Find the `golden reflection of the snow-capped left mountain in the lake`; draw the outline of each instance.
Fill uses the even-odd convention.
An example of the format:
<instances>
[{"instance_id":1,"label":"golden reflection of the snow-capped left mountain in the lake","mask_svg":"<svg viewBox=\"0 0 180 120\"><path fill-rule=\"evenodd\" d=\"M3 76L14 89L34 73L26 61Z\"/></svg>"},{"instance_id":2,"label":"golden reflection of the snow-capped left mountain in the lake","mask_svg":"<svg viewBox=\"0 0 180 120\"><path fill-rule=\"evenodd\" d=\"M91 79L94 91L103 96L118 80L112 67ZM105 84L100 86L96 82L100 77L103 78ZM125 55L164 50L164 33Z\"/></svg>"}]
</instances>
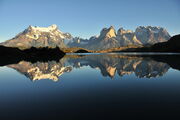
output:
<instances>
[{"instance_id":1,"label":"golden reflection of the snow-capped left mountain in the lake","mask_svg":"<svg viewBox=\"0 0 180 120\"><path fill-rule=\"evenodd\" d=\"M64 72L70 72L72 70L72 67L65 67L61 61L36 63L21 61L18 64L9 65L8 67L17 70L33 81L41 79L58 81L59 76Z\"/></svg>"}]
</instances>

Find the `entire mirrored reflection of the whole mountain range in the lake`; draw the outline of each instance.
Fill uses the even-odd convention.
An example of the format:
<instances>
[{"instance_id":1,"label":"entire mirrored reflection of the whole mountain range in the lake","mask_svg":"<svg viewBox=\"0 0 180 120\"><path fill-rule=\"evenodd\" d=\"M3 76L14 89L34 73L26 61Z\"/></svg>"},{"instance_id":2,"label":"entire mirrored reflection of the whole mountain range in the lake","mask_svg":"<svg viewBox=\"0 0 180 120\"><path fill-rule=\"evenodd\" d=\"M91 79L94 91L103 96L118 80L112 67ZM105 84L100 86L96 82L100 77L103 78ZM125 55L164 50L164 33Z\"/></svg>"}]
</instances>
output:
<instances>
[{"instance_id":1,"label":"entire mirrored reflection of the whole mountain range in the lake","mask_svg":"<svg viewBox=\"0 0 180 120\"><path fill-rule=\"evenodd\" d=\"M58 81L62 74L85 66L99 70L102 76L110 78L116 74L123 77L133 73L138 78L152 78L163 76L170 68L168 64L148 57L125 55L66 55L59 61L35 63L20 61L18 64L11 64L7 67L17 70L32 81L41 79Z\"/></svg>"}]
</instances>

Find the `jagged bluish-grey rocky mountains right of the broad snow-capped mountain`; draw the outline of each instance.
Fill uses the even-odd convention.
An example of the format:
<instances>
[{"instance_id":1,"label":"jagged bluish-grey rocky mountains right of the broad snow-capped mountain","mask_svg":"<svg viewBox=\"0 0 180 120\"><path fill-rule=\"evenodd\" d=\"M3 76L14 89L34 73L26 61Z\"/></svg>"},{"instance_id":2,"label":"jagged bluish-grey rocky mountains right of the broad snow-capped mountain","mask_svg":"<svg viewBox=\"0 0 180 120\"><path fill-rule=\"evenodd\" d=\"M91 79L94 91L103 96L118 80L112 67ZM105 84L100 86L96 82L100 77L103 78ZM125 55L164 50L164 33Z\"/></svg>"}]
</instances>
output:
<instances>
[{"instance_id":1,"label":"jagged bluish-grey rocky mountains right of the broad snow-capped mountain","mask_svg":"<svg viewBox=\"0 0 180 120\"><path fill-rule=\"evenodd\" d=\"M168 41L170 37L167 30L161 27L140 26L136 28L135 32L120 28L116 32L111 26L110 28L103 28L99 36L93 36L89 40L74 38L74 41L68 45L89 50L105 50L128 46L148 46Z\"/></svg>"}]
</instances>

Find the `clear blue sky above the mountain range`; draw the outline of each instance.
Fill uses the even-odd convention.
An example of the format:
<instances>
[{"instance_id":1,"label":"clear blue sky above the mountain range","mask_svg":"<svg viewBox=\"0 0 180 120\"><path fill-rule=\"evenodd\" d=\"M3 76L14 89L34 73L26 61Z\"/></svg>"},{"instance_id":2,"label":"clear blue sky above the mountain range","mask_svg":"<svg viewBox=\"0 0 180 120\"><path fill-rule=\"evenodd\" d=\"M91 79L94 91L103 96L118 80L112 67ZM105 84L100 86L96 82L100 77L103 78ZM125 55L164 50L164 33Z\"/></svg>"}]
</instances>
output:
<instances>
[{"instance_id":1,"label":"clear blue sky above the mountain range","mask_svg":"<svg viewBox=\"0 0 180 120\"><path fill-rule=\"evenodd\" d=\"M0 41L29 25L57 24L63 32L89 38L104 27L135 30L162 26L180 33L179 0L0 0Z\"/></svg>"}]
</instances>

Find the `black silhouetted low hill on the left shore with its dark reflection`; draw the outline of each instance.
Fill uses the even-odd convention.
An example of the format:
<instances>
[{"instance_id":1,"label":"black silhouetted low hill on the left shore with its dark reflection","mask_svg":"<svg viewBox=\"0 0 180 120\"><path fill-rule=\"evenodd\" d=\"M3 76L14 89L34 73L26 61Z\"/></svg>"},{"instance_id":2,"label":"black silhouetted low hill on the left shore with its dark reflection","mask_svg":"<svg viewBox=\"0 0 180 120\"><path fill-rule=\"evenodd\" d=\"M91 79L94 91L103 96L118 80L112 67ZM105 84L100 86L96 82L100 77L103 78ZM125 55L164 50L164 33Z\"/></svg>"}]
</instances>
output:
<instances>
[{"instance_id":1,"label":"black silhouetted low hill on the left shore with its dark reflection","mask_svg":"<svg viewBox=\"0 0 180 120\"><path fill-rule=\"evenodd\" d=\"M20 50L18 48L0 46L0 66L4 64L18 63L25 60L30 62L59 60L65 53L59 48L30 48Z\"/></svg>"}]
</instances>

